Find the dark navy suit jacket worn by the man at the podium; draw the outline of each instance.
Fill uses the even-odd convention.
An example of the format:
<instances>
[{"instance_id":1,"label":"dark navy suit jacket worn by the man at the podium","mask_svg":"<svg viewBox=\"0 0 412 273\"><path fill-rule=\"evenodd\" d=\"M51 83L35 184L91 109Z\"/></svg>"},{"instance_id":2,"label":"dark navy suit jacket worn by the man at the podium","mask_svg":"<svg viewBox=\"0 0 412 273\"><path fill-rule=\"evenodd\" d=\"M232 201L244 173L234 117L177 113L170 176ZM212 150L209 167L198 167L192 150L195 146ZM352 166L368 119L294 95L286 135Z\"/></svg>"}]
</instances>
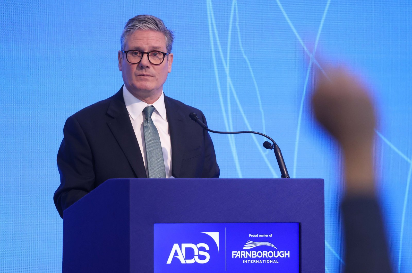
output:
<instances>
[{"instance_id":1,"label":"dark navy suit jacket worn by the man at the podium","mask_svg":"<svg viewBox=\"0 0 412 273\"><path fill-rule=\"evenodd\" d=\"M54 204L63 211L109 178L147 178L143 157L120 88L112 97L70 116L57 154L60 186ZM164 96L169 123L172 176L218 178L215 150L206 130L189 118L203 113Z\"/></svg>"}]
</instances>

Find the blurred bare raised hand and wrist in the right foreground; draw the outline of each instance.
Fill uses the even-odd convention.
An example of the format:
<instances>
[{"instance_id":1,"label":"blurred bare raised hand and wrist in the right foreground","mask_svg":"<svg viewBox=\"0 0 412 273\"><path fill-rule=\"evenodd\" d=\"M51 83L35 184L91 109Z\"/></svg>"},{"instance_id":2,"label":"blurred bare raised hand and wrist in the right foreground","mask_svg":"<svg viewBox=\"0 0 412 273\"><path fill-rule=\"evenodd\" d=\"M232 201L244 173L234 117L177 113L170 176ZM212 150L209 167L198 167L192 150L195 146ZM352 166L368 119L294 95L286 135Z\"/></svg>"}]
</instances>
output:
<instances>
[{"instance_id":1,"label":"blurred bare raised hand and wrist in the right foreground","mask_svg":"<svg viewBox=\"0 0 412 273\"><path fill-rule=\"evenodd\" d=\"M374 194L375 109L365 85L344 67L318 73L311 105L318 122L337 140L344 157L346 192Z\"/></svg>"}]
</instances>

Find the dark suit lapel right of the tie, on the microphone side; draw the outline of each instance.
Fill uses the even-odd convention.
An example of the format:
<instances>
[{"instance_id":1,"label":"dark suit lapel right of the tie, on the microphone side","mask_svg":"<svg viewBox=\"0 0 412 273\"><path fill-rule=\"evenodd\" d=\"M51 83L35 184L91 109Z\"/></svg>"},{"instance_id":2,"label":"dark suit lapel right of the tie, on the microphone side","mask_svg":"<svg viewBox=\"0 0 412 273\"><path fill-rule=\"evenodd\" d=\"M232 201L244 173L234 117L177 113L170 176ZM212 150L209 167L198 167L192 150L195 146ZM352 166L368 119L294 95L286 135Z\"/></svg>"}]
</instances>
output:
<instances>
[{"instance_id":1,"label":"dark suit lapel right of the tie, on the microphone side","mask_svg":"<svg viewBox=\"0 0 412 273\"><path fill-rule=\"evenodd\" d=\"M172 176L178 178L183 161L183 147L185 147L185 116L170 97L164 96L164 106L172 146Z\"/></svg>"}]
</instances>

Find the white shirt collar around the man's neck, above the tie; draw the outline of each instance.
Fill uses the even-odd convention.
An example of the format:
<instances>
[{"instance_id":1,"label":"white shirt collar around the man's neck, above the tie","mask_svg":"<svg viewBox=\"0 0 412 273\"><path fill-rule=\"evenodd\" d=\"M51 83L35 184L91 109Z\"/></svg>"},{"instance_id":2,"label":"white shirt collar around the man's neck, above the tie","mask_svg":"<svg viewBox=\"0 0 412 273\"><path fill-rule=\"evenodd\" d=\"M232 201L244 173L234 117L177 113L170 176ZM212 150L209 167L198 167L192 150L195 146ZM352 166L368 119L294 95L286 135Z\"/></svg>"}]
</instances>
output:
<instances>
[{"instance_id":1,"label":"white shirt collar around the man's neck, above the tie","mask_svg":"<svg viewBox=\"0 0 412 273\"><path fill-rule=\"evenodd\" d=\"M157 101L153 102L152 104L147 104L146 102L141 101L137 97L133 96L129 90L127 90L126 86L123 86L123 99L124 103L126 104L126 109L129 112L130 117L135 120L138 116L142 115L143 109L146 106L153 105L155 107L155 111L159 113L159 115L166 120L166 107L164 106L164 93L162 90L162 95L157 99Z\"/></svg>"}]
</instances>

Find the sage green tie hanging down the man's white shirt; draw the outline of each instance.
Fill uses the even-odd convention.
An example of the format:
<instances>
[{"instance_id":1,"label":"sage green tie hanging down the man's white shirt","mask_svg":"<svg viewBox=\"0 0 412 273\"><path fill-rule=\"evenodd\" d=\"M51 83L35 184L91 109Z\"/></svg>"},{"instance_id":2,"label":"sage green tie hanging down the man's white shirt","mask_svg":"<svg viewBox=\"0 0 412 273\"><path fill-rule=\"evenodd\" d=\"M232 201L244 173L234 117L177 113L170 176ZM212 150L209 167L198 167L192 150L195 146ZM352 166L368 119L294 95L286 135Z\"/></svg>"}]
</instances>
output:
<instances>
[{"instance_id":1,"label":"sage green tie hanging down the man's white shirt","mask_svg":"<svg viewBox=\"0 0 412 273\"><path fill-rule=\"evenodd\" d=\"M143 123L143 132L145 134L147 168L149 169L149 178L166 178L162 144L160 143L159 132L157 132L152 120L153 111L155 111L153 105L143 109L146 116Z\"/></svg>"}]
</instances>

